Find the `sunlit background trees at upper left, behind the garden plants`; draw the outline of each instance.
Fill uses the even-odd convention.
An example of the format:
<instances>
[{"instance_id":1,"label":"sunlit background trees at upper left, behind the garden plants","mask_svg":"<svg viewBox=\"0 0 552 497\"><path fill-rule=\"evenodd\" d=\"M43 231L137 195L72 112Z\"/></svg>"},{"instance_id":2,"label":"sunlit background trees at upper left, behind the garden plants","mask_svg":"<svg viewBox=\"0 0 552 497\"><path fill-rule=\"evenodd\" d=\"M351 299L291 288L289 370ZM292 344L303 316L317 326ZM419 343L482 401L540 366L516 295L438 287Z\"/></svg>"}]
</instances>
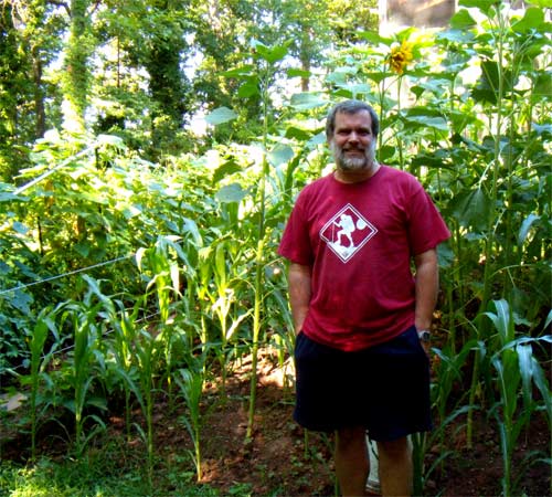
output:
<instances>
[{"instance_id":1,"label":"sunlit background trees at upper left, behind the garden plants","mask_svg":"<svg viewBox=\"0 0 552 497\"><path fill-rule=\"evenodd\" d=\"M247 60L252 40L286 44L307 91L325 54L376 29L375 4L1 0L0 175L12 178L14 160L25 165L25 147L52 128L116 134L152 160L197 149L187 125L235 103L243 82L222 73ZM242 102L242 121L258 106L255 95ZM238 123L219 139L247 136Z\"/></svg>"}]
</instances>

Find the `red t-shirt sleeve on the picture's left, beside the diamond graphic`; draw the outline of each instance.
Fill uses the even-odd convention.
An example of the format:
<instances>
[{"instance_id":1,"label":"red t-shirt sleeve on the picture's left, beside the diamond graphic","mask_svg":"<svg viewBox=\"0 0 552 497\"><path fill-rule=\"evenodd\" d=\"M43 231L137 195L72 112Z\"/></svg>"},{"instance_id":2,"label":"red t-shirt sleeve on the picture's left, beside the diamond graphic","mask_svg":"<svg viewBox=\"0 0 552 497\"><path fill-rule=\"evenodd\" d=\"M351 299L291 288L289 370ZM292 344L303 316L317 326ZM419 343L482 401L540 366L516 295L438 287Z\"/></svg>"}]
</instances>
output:
<instances>
[{"instance_id":1,"label":"red t-shirt sleeve on the picture's left, beside the diamond graphic","mask_svg":"<svg viewBox=\"0 0 552 497\"><path fill-rule=\"evenodd\" d=\"M278 246L278 254L293 263L308 266L312 264L315 257L301 200L299 195L289 215Z\"/></svg>"}]
</instances>

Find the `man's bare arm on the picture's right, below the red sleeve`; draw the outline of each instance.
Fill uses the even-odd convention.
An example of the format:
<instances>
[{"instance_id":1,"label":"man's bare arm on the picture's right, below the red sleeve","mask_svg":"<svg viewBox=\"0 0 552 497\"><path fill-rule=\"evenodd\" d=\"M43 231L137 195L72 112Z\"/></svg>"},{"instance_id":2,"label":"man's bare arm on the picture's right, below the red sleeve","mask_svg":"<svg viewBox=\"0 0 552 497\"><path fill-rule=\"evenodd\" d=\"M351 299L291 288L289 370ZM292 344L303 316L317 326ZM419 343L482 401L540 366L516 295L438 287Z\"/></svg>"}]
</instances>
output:
<instances>
[{"instance_id":1,"label":"man's bare arm on the picture's right, below the red sleeve","mask_svg":"<svg viewBox=\"0 0 552 497\"><path fill-rule=\"evenodd\" d=\"M437 250L432 248L414 257L416 265L416 311L414 324L418 331L429 329L437 303L439 269Z\"/></svg>"}]
</instances>

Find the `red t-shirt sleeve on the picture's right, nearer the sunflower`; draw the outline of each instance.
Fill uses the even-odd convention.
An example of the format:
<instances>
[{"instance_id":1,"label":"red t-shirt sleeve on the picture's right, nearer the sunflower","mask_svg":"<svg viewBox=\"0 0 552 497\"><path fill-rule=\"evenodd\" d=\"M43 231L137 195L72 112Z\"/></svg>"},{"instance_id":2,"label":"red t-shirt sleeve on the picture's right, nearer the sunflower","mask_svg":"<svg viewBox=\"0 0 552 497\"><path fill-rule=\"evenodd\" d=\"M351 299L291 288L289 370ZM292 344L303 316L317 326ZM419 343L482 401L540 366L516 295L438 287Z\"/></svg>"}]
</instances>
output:
<instances>
[{"instance_id":1,"label":"red t-shirt sleeve on the picture's right, nearer the sunflower","mask_svg":"<svg viewBox=\"0 0 552 497\"><path fill-rule=\"evenodd\" d=\"M411 197L408 242L413 255L435 248L450 232L429 194L418 183Z\"/></svg>"}]
</instances>

